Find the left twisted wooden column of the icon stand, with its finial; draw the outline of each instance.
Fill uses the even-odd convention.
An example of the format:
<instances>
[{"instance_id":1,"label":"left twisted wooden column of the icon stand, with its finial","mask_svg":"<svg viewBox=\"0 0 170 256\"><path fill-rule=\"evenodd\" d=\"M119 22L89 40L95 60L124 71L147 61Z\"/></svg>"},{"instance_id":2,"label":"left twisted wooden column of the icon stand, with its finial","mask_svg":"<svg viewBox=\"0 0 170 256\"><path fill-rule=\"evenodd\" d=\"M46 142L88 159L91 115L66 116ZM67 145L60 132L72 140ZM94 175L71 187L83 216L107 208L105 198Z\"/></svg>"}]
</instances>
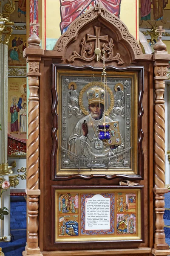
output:
<instances>
[{"instance_id":1,"label":"left twisted wooden column of the icon stand, with its finial","mask_svg":"<svg viewBox=\"0 0 170 256\"><path fill-rule=\"evenodd\" d=\"M43 50L35 34L28 38L24 56L28 62L28 141L27 141L27 246L23 256L42 255L38 247L38 197L39 189L39 78L40 60Z\"/></svg>"}]
</instances>

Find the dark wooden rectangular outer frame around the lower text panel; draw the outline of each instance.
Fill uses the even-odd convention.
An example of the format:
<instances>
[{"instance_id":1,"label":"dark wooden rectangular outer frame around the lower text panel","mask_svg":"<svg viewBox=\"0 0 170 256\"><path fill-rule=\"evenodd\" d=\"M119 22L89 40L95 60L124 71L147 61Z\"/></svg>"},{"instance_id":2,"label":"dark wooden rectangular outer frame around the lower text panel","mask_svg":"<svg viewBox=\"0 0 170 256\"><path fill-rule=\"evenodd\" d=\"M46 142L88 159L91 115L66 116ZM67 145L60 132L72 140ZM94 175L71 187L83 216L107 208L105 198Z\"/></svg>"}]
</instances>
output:
<instances>
[{"instance_id":1,"label":"dark wooden rectangular outer frame around the lower text panel","mask_svg":"<svg viewBox=\"0 0 170 256\"><path fill-rule=\"evenodd\" d=\"M142 209L144 209L144 186L51 186L51 244L73 244L75 241L55 241L55 190L56 189L141 189L141 239L123 239L123 240L107 240L107 241L100 241L102 243L117 243L117 242L123 242L127 244L128 242L133 243L144 243L144 214L142 214ZM99 241L76 241L76 243L96 243Z\"/></svg>"}]
</instances>

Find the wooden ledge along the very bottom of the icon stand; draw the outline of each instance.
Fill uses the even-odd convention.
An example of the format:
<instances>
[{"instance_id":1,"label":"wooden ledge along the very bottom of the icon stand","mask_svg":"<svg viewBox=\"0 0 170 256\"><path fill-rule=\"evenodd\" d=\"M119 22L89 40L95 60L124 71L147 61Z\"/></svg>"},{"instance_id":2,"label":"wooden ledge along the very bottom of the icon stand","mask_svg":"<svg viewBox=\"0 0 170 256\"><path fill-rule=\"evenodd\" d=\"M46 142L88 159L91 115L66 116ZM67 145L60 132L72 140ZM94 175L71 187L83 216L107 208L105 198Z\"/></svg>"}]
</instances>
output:
<instances>
[{"instance_id":1,"label":"wooden ledge along the very bottom of the icon stand","mask_svg":"<svg viewBox=\"0 0 170 256\"><path fill-rule=\"evenodd\" d=\"M136 253L151 253L152 248L136 248L136 249L113 249L113 250L82 250L82 251L43 251L43 256L106 256L106 255L118 255L118 254L136 254Z\"/></svg>"}]
</instances>

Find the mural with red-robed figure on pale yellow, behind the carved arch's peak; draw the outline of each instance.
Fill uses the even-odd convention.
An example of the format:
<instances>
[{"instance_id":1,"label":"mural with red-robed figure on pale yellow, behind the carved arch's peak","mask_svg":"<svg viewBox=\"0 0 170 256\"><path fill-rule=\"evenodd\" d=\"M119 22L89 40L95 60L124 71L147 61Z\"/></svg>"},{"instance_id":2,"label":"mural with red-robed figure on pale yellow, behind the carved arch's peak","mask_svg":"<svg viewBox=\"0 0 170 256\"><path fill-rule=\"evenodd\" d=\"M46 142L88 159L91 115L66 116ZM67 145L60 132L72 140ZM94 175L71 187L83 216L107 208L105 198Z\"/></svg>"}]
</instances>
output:
<instances>
[{"instance_id":1,"label":"mural with red-robed figure on pale yellow, behind the carved arch's peak","mask_svg":"<svg viewBox=\"0 0 170 256\"><path fill-rule=\"evenodd\" d=\"M85 3L84 3L85 2ZM51 5L48 1L46 2L46 33L45 45L46 49L52 50L57 39L62 33L64 33L71 22L73 22L79 15L88 12L93 8L99 0L88 0L88 1L77 1L78 4L74 4L75 1L57 1L55 5ZM119 17L128 27L130 33L138 37L138 13L136 12L136 5L134 0L127 2L126 0L102 0L102 4L111 12ZM137 4L137 3L136 3ZM79 6L79 8L77 8ZM65 15L65 8L67 7L67 15ZM55 8L55 16L51 15ZM129 15L130 14L130 15ZM66 16L66 17L65 17ZM49 17L49 18L48 18ZM57 17L57 19L56 19ZM137 17L137 20L136 20ZM51 27L51 23L53 26ZM51 29L53 28L53 29ZM42 28L43 31L44 28ZM43 42L42 42L43 44Z\"/></svg>"}]
</instances>

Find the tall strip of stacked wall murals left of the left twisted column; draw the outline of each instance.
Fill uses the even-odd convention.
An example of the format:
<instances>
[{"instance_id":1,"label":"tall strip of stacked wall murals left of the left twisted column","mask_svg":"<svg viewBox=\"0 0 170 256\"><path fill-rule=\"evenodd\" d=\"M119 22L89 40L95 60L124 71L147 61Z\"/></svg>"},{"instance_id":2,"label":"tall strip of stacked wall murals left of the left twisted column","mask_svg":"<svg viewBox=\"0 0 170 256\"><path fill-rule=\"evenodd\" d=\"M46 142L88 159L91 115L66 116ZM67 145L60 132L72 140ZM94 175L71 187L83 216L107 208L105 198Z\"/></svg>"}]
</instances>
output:
<instances>
[{"instance_id":1,"label":"tall strip of stacked wall murals left of the left twisted column","mask_svg":"<svg viewBox=\"0 0 170 256\"><path fill-rule=\"evenodd\" d=\"M10 16L14 26L8 44L8 144L12 140L8 154L18 148L18 157L26 157L18 146L26 142L27 130L26 58L23 58L27 44L26 16L26 0L15 0L15 10Z\"/></svg>"}]
</instances>

